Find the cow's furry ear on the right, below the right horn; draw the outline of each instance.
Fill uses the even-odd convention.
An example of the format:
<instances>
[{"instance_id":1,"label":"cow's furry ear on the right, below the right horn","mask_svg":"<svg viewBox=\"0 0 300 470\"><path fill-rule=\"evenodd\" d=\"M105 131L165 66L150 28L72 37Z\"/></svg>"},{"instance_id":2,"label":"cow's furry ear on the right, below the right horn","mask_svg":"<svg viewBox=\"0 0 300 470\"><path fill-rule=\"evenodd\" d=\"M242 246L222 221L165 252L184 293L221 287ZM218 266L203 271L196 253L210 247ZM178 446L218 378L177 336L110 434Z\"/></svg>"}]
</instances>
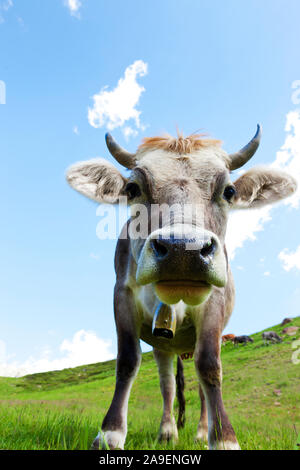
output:
<instances>
[{"instance_id":1,"label":"cow's furry ear on the right, below the right horn","mask_svg":"<svg viewBox=\"0 0 300 470\"><path fill-rule=\"evenodd\" d=\"M297 189L296 180L281 170L256 167L244 173L234 186L234 209L258 208L280 201Z\"/></svg>"}]
</instances>

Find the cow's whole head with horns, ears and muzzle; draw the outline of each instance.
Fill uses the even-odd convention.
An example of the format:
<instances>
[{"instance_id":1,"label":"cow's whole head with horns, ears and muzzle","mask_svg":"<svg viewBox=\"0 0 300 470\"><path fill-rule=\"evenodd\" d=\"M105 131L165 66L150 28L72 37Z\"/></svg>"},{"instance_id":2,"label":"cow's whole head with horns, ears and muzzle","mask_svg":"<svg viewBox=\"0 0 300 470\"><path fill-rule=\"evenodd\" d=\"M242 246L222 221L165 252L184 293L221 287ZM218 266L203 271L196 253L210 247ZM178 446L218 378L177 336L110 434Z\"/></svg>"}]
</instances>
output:
<instances>
[{"instance_id":1,"label":"cow's whole head with horns, ears and muzzle","mask_svg":"<svg viewBox=\"0 0 300 470\"><path fill-rule=\"evenodd\" d=\"M229 210L258 208L296 189L291 176L271 168L253 168L232 181L231 172L250 160L260 137L258 126L253 139L231 155L219 141L199 135L146 138L131 154L107 134L110 153L131 170L129 177L106 160L94 159L73 165L67 180L100 203L117 203L127 196L135 215L144 213L148 229L140 238L130 237L137 283L154 284L167 304L182 299L197 305L208 298L212 286L226 284ZM136 212L137 207L144 211Z\"/></svg>"}]
</instances>

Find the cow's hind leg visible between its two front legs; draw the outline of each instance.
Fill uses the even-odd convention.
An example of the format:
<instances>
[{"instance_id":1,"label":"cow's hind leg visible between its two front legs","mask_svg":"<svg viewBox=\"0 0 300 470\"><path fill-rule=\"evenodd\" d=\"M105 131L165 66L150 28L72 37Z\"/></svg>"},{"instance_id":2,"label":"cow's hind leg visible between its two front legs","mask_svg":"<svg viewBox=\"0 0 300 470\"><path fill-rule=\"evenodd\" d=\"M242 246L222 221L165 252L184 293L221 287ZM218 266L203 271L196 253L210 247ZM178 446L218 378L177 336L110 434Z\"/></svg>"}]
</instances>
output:
<instances>
[{"instance_id":1,"label":"cow's hind leg visible between its two front legs","mask_svg":"<svg viewBox=\"0 0 300 470\"><path fill-rule=\"evenodd\" d=\"M160 441L177 440L178 431L173 416L173 403L176 393L173 372L174 354L168 354L158 349L154 349L153 354L158 366L160 389L163 396L163 416L160 423L158 439Z\"/></svg>"}]
</instances>

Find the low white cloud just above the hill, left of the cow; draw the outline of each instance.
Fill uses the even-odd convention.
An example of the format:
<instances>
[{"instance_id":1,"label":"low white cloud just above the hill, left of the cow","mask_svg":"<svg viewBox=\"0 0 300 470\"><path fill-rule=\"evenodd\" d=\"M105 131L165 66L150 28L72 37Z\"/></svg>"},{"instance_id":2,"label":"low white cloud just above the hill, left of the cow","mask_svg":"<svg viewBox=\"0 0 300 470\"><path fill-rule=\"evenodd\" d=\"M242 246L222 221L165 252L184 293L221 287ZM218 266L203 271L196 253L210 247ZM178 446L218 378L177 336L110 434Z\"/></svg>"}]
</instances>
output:
<instances>
[{"instance_id":1,"label":"low white cloud just above the hill, left of the cow","mask_svg":"<svg viewBox=\"0 0 300 470\"><path fill-rule=\"evenodd\" d=\"M65 339L54 357L53 351L45 348L39 358L29 357L24 362L13 360L0 340L0 376L20 377L26 374L61 370L84 364L103 362L114 358L111 341L99 338L93 331L77 331L71 340Z\"/></svg>"}]
</instances>

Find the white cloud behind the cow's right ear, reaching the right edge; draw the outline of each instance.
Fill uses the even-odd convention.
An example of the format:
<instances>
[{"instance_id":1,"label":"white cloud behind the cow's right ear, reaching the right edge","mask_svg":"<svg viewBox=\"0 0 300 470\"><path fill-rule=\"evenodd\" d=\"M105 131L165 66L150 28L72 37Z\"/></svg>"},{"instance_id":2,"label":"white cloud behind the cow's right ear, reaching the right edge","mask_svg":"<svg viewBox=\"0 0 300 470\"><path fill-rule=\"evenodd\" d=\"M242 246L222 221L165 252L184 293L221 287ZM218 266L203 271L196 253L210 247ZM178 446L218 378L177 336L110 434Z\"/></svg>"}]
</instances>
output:
<instances>
[{"instance_id":1,"label":"white cloud behind the cow's right ear, reaching the right edge","mask_svg":"<svg viewBox=\"0 0 300 470\"><path fill-rule=\"evenodd\" d=\"M284 144L276 153L274 162L270 165L290 173L298 181L298 190L294 195L283 201L283 204L298 208L300 202L300 111L291 111L286 116L285 131L287 132ZM226 243L230 259L233 259L236 250L241 248L247 240L256 240L258 232L264 230L265 224L272 217L274 206L261 209L235 211L230 214Z\"/></svg>"}]
</instances>

